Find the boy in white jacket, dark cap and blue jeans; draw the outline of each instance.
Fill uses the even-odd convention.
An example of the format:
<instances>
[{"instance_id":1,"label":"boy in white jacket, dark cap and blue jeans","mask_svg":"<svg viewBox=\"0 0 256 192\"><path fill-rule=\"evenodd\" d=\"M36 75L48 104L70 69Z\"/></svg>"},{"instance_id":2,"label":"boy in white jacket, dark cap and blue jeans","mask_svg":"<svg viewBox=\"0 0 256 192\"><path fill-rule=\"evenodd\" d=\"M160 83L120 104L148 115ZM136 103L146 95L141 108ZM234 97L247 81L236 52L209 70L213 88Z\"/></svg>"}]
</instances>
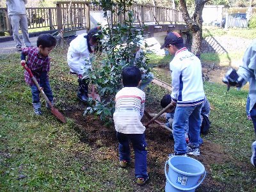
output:
<instances>
[{"instance_id":1,"label":"boy in white jacket, dark cap and blue jeans","mask_svg":"<svg viewBox=\"0 0 256 192\"><path fill-rule=\"evenodd\" d=\"M170 156L200 155L200 113L204 102L202 67L195 54L184 47L179 33L170 32L164 38L161 49L167 48L174 55L170 62L172 72L172 103L176 105L173 118L174 154ZM188 146L185 140L186 121L189 121Z\"/></svg>"}]
</instances>

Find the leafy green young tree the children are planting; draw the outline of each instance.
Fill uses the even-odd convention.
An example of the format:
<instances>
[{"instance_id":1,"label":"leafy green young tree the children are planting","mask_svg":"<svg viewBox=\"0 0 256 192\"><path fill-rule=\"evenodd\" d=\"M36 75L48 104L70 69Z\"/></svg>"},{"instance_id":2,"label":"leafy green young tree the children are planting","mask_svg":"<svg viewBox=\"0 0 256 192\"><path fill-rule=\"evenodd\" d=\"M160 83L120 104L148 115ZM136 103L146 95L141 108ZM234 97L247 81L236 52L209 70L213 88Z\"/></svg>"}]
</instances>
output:
<instances>
[{"instance_id":1,"label":"leafy green young tree the children are planting","mask_svg":"<svg viewBox=\"0 0 256 192\"><path fill-rule=\"evenodd\" d=\"M144 53L141 53L140 58L134 59L144 28L132 26L134 14L129 9L132 3L133 1L115 1L114 3L109 0L95 2L103 8L105 13L106 10L110 10L114 17L122 16L122 22L118 22L115 26L114 23L102 26L104 36L102 49L106 56L102 60L93 60L93 70L88 73L91 83L97 88L101 102L90 99L84 115L88 113L98 115L106 124L113 122L115 95L122 88L122 69L136 65L147 72L150 71ZM118 8L118 11L114 11L114 7Z\"/></svg>"}]
</instances>

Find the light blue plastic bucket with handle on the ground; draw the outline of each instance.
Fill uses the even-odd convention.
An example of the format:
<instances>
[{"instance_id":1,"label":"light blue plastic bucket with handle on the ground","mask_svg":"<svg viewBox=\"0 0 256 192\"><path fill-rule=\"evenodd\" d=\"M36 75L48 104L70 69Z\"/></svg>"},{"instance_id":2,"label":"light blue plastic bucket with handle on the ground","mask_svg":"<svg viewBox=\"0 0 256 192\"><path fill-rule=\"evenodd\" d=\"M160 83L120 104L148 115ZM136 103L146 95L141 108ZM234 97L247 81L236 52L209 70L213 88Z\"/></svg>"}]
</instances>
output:
<instances>
[{"instance_id":1,"label":"light blue plastic bucket with handle on the ground","mask_svg":"<svg viewBox=\"0 0 256 192\"><path fill-rule=\"evenodd\" d=\"M168 173L166 172L167 164L169 166ZM173 156L168 159L165 163L164 172L167 180L165 192L193 192L200 186L206 175L202 163L185 156ZM201 177L202 179L200 180Z\"/></svg>"}]
</instances>

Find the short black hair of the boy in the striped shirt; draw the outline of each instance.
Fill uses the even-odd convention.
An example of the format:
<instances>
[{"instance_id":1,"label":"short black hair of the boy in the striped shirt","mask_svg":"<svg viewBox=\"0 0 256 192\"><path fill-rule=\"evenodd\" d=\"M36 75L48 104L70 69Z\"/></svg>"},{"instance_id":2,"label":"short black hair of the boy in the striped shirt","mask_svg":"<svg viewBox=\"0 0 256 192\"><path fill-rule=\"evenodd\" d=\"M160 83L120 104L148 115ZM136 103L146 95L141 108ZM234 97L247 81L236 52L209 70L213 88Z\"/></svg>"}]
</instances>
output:
<instances>
[{"instance_id":1,"label":"short black hair of the boy in the striped shirt","mask_svg":"<svg viewBox=\"0 0 256 192\"><path fill-rule=\"evenodd\" d=\"M136 87L141 80L141 71L138 67L125 67L122 71L122 82L124 87Z\"/></svg>"}]
</instances>

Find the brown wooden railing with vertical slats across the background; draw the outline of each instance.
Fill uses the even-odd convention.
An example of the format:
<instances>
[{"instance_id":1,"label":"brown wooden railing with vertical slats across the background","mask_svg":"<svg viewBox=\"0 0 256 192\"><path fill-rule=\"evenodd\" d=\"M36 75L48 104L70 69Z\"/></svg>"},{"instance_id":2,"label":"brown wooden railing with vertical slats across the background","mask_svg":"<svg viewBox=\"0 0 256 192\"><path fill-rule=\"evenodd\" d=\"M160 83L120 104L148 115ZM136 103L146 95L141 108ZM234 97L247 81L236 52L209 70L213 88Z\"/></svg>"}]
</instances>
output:
<instances>
[{"instance_id":1,"label":"brown wooden railing with vertical slats across the background","mask_svg":"<svg viewBox=\"0 0 256 192\"><path fill-rule=\"evenodd\" d=\"M113 24L122 23L127 15L117 15L118 8L113 8ZM146 6L133 4L128 8L134 14L135 23L145 22L184 22L179 11L160 6ZM95 6L86 1L57 1L56 7L49 8L26 8L28 15L28 28L64 29L76 31L90 28L90 10L100 11L100 6ZM0 32L12 33L7 8L0 8Z\"/></svg>"}]
</instances>

